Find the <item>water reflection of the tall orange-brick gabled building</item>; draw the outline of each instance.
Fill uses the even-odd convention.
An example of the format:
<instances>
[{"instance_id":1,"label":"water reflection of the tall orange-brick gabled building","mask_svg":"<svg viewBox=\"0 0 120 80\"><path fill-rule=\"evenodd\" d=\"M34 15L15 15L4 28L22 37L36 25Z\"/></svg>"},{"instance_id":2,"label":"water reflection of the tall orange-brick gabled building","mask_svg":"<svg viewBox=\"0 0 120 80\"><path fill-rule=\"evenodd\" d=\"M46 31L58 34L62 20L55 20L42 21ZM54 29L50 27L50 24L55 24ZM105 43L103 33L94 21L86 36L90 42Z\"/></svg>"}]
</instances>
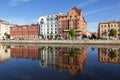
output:
<instances>
[{"instance_id":1,"label":"water reflection of the tall orange-brick gabled building","mask_svg":"<svg viewBox=\"0 0 120 80\"><path fill-rule=\"evenodd\" d=\"M82 73L87 58L87 48L59 48L58 68L60 71L68 70L72 76ZM73 56L75 55L76 56Z\"/></svg>"}]
</instances>

